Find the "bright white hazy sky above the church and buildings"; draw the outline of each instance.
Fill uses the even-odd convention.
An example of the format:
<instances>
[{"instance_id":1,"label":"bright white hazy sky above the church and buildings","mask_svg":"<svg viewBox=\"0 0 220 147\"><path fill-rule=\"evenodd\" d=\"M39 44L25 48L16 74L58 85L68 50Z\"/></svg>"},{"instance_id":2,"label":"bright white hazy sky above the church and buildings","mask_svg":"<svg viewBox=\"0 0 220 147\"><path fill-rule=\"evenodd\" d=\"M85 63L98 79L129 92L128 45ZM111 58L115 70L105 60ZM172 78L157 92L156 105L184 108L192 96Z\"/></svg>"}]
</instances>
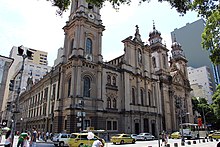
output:
<instances>
[{"instance_id":1,"label":"bright white hazy sky above the church and buildings","mask_svg":"<svg viewBox=\"0 0 220 147\"><path fill-rule=\"evenodd\" d=\"M136 1L136 2L135 2ZM114 59L124 53L123 39L134 36L135 26L139 26L141 39L148 43L149 32L161 32L163 43L171 49L170 33L186 23L199 18L195 12L179 13L167 2L151 0L141 5L139 0L120 6L116 11L109 3L101 9L103 32L102 55L104 61ZM63 47L63 27L68 20L69 10L62 16L56 15L56 7L46 0L4 0L0 2L0 55L9 56L13 46L23 45L48 52L48 65L53 66L57 50ZM178 41L178 38L177 38Z\"/></svg>"}]
</instances>

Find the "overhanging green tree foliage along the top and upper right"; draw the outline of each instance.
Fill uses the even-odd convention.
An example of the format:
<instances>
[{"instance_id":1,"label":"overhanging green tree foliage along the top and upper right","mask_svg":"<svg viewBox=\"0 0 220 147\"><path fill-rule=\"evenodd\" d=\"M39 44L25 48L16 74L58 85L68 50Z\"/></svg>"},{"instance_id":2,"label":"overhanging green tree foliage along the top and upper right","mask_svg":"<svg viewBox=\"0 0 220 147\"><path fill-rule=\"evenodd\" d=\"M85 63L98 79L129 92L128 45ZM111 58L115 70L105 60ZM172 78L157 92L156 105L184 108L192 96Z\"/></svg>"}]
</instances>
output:
<instances>
[{"instance_id":1,"label":"overhanging green tree foliage along the top and upper right","mask_svg":"<svg viewBox=\"0 0 220 147\"><path fill-rule=\"evenodd\" d=\"M49 1L49 0L47 0ZM68 9L71 0L50 0L53 6L58 7L57 13L62 13ZM121 4L130 4L131 0L86 0L88 3L103 7L105 1L109 1L113 8L118 8ZM142 2L151 0L139 0ZM210 59L214 64L220 64L220 4L219 0L158 0L158 2L169 2L172 8L176 8L181 15L187 11L198 12L198 16L206 20L206 27L202 34L202 46L210 52Z\"/></svg>"}]
</instances>

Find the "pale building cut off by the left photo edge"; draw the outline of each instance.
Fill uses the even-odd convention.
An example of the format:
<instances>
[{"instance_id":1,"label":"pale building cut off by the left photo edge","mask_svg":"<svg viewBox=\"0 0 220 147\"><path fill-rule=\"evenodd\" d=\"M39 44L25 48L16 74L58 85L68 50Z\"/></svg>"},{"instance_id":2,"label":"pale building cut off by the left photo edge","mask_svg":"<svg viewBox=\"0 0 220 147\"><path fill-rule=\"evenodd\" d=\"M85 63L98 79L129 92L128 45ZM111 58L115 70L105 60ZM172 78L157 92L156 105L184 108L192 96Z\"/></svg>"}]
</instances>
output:
<instances>
[{"instance_id":1,"label":"pale building cut off by the left photo edge","mask_svg":"<svg viewBox=\"0 0 220 147\"><path fill-rule=\"evenodd\" d=\"M4 102L4 94L5 89L8 87L7 83L7 77L8 77L8 71L13 63L12 58L8 58L5 56L0 55L0 116L2 115L3 109L5 109L4 105L2 105ZM2 117L0 117L0 123L2 122Z\"/></svg>"}]
</instances>

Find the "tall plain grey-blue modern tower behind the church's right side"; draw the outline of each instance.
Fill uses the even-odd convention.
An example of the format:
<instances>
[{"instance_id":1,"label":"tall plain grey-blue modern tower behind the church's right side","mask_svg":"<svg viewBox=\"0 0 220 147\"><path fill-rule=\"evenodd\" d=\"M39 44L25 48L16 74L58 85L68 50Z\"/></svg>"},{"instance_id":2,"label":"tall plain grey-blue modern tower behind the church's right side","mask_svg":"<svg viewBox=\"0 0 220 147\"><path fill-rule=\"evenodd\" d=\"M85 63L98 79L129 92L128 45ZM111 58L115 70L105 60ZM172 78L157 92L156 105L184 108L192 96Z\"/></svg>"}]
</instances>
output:
<instances>
[{"instance_id":1,"label":"tall plain grey-blue modern tower behind the church's right side","mask_svg":"<svg viewBox=\"0 0 220 147\"><path fill-rule=\"evenodd\" d=\"M172 41L174 38L182 45L182 49L188 60L188 66L200 68L207 66L210 69L212 81L212 90L215 90L216 85L220 84L220 69L219 66L212 64L209 59L209 52L202 48L202 32L205 28L205 21L199 19L192 23L187 23L181 28L176 28L171 32Z\"/></svg>"}]
</instances>

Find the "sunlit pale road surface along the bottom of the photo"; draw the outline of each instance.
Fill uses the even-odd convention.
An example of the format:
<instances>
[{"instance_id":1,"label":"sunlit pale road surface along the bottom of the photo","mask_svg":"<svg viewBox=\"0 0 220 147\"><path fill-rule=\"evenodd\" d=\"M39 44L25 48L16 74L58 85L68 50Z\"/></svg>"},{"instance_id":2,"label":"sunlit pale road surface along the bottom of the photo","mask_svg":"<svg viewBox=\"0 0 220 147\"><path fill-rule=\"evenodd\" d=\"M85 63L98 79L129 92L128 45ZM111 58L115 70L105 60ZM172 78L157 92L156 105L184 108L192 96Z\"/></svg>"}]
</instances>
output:
<instances>
[{"instance_id":1,"label":"sunlit pale road surface along the bottom of the photo","mask_svg":"<svg viewBox=\"0 0 220 147\"><path fill-rule=\"evenodd\" d=\"M188 142L188 140L186 140L186 142ZM187 143L185 143L185 146L183 147L216 147L218 141L214 140L213 142L207 142L207 140L205 140L205 142L203 142L202 139L200 139L200 143L199 140L196 140L196 144L193 144L193 140L190 140L191 145L188 145ZM181 147L181 140L180 139L169 139L168 144L170 144L170 147L175 147L174 144L177 143L178 147ZM154 141L137 141L135 144L123 144L123 145L115 145L112 143L106 143L105 147L163 147L163 146L159 146L158 145L159 142L158 140L154 140ZM161 144L161 141L160 141ZM37 147L54 147L54 145L52 143L37 143Z\"/></svg>"}]
</instances>

